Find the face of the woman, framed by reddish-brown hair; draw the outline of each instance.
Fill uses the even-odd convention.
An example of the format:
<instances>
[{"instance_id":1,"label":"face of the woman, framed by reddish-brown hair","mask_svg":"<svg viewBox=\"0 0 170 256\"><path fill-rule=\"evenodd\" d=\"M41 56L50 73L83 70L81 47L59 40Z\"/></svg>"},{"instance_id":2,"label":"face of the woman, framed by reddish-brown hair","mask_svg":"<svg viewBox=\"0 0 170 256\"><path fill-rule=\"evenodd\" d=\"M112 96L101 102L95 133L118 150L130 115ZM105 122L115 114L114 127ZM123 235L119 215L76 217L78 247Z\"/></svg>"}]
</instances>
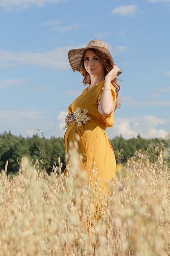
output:
<instances>
[{"instance_id":1,"label":"face of the woman, framed by reddish-brown hair","mask_svg":"<svg viewBox=\"0 0 170 256\"><path fill-rule=\"evenodd\" d=\"M100 63L95 53L91 50L86 50L84 56L84 67L90 75L104 75L104 65Z\"/></svg>"}]
</instances>

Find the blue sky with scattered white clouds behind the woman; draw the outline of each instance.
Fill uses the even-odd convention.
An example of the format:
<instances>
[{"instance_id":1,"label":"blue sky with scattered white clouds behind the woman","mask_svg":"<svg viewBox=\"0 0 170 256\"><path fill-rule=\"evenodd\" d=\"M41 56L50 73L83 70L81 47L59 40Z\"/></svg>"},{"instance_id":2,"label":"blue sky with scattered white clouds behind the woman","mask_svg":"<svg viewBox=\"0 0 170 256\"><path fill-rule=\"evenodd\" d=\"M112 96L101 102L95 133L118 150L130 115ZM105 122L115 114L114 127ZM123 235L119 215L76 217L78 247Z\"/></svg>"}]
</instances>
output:
<instances>
[{"instance_id":1,"label":"blue sky with scattered white clouds behind the woman","mask_svg":"<svg viewBox=\"0 0 170 256\"><path fill-rule=\"evenodd\" d=\"M0 0L0 134L63 137L69 104L82 92L68 51L108 43L121 108L110 139L170 132L170 0Z\"/></svg>"}]
</instances>

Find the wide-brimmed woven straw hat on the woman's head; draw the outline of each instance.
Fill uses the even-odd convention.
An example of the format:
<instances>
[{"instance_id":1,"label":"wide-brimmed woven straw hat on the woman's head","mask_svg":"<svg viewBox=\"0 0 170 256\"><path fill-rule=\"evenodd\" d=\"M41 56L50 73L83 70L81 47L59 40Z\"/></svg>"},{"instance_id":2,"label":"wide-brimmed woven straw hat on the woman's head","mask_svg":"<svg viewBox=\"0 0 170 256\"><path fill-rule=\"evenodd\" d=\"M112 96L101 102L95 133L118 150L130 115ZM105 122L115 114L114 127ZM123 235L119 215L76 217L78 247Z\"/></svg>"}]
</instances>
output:
<instances>
[{"instance_id":1,"label":"wide-brimmed woven straw hat on the woman's head","mask_svg":"<svg viewBox=\"0 0 170 256\"><path fill-rule=\"evenodd\" d=\"M81 72L82 71L82 65L81 65L81 60L82 60L82 56L84 54L84 51L87 49L98 49L101 52L104 52L108 58L110 59L112 65L114 64L113 58L109 52L109 46L107 43L105 43L102 40L98 40L98 39L93 39L91 41L88 42L88 44L86 45L85 48L81 48L81 49L72 49L68 52L68 60L70 62L70 65L73 69L73 71L75 72L75 70ZM121 74L121 70L118 67L118 72L117 72L117 76L119 76L119 74Z\"/></svg>"}]
</instances>

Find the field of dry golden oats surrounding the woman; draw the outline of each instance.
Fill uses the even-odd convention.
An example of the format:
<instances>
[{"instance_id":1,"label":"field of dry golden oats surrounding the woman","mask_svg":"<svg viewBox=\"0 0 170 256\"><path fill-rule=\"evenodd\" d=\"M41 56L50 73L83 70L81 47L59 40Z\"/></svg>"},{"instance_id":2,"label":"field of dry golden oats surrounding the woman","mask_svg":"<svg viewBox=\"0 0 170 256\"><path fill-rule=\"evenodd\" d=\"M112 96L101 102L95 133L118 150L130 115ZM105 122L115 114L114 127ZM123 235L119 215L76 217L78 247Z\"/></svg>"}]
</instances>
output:
<instances>
[{"instance_id":1,"label":"field of dry golden oats surrounding the woman","mask_svg":"<svg viewBox=\"0 0 170 256\"><path fill-rule=\"evenodd\" d=\"M106 196L88 185L71 151L68 177L22 159L18 175L0 175L0 256L170 255L170 166L140 150ZM94 172L95 175L95 172ZM99 181L98 181L99 182ZM98 198L98 199L96 199ZM104 203L105 202L105 203Z\"/></svg>"}]
</instances>

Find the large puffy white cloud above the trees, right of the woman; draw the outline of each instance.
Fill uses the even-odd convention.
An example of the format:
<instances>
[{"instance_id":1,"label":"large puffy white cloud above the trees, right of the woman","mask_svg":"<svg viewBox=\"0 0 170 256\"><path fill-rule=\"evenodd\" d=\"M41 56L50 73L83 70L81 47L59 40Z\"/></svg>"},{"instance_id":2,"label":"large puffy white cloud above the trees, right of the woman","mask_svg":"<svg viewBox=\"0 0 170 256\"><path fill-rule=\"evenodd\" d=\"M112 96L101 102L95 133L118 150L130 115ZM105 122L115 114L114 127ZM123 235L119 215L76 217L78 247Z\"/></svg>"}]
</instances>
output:
<instances>
[{"instance_id":1,"label":"large puffy white cloud above the trees, right of the woman","mask_svg":"<svg viewBox=\"0 0 170 256\"><path fill-rule=\"evenodd\" d=\"M170 122L168 119L155 117L152 115L144 117L120 118L115 117L113 128L108 128L107 134L109 138L122 135L125 139L137 137L138 134L142 138L166 138L168 132L163 128L158 129L158 125L165 125Z\"/></svg>"}]
</instances>

